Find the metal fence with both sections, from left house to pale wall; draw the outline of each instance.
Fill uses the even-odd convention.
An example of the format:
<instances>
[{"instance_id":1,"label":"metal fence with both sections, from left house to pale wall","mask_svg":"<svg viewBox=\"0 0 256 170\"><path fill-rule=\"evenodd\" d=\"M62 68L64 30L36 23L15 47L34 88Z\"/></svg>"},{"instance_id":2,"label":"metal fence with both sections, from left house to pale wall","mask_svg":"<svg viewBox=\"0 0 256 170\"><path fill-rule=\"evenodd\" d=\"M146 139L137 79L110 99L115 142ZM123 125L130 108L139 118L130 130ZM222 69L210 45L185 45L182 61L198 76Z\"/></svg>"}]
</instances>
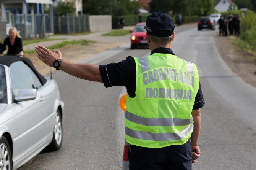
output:
<instances>
[{"instance_id":1,"label":"metal fence with both sections, from left house to pale wall","mask_svg":"<svg viewBox=\"0 0 256 170\"><path fill-rule=\"evenodd\" d=\"M16 27L23 39L49 37L50 33L83 33L89 32L89 14L82 16L55 16L54 32L48 14L11 14L6 13L6 29Z\"/></svg>"}]
</instances>

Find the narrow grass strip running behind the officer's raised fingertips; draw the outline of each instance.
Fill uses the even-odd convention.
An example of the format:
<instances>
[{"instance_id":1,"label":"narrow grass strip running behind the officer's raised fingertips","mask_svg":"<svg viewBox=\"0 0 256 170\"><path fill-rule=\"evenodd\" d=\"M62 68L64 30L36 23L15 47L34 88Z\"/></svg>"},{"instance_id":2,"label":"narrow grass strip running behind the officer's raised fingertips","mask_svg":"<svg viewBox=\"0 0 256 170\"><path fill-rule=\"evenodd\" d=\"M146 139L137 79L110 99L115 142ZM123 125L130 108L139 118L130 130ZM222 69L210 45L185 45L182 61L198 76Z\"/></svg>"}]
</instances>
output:
<instances>
[{"instance_id":1,"label":"narrow grass strip running behind the officer's raised fingertips","mask_svg":"<svg viewBox=\"0 0 256 170\"><path fill-rule=\"evenodd\" d=\"M91 40L72 40L72 41L63 41L61 43L57 43L55 45L52 45L52 46L48 46L47 48L50 49L50 50L53 50L53 49L58 49L58 48L62 48L64 46L67 46L67 45L75 45L75 44L81 44L81 45L88 45L89 43L94 43L95 41L91 41ZM35 54L36 51L33 49L33 50L28 50L28 51L24 51L24 54Z\"/></svg>"}]
</instances>

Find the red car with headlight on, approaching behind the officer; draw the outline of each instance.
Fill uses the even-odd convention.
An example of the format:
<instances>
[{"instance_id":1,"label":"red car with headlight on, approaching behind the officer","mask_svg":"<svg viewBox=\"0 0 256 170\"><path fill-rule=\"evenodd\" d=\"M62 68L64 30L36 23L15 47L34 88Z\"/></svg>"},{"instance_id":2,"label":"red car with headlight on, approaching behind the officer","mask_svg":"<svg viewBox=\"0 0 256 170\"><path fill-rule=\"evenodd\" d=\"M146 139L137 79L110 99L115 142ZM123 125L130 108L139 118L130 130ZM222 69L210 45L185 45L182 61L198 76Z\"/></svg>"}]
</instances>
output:
<instances>
[{"instance_id":1,"label":"red car with headlight on, approaching behind the officer","mask_svg":"<svg viewBox=\"0 0 256 170\"><path fill-rule=\"evenodd\" d=\"M134 29L131 31L131 49L138 46L148 46L146 29L144 29L145 25L146 22L137 23Z\"/></svg>"}]
</instances>

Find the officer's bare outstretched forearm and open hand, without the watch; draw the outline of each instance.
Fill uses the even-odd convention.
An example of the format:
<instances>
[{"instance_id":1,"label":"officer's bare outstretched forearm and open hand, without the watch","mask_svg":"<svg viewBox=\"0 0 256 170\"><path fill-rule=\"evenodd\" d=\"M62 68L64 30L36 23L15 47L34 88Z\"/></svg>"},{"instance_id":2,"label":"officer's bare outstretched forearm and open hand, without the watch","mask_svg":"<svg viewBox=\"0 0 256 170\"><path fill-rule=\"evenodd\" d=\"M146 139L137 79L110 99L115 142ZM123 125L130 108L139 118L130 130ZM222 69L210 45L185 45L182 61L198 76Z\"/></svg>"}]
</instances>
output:
<instances>
[{"instance_id":1,"label":"officer's bare outstretched forearm and open hand, without the watch","mask_svg":"<svg viewBox=\"0 0 256 170\"><path fill-rule=\"evenodd\" d=\"M45 64L53 67L53 62L57 59L62 59L62 53L55 50L55 53L45 48L44 46L36 46L37 57ZM80 64L63 60L59 67L60 70L89 81L102 82L99 66L93 64Z\"/></svg>"}]
</instances>

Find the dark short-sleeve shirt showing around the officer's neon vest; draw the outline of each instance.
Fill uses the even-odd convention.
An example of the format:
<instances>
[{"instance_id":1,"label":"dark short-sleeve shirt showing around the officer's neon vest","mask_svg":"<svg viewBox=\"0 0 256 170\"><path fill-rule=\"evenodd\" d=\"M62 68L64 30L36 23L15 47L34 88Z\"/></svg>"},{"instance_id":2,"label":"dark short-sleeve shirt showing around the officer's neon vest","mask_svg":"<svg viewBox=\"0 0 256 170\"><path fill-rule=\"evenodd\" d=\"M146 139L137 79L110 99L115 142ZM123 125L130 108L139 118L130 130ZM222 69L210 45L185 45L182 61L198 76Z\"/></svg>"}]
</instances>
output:
<instances>
[{"instance_id":1,"label":"dark short-sleeve shirt showing around the officer's neon vest","mask_svg":"<svg viewBox=\"0 0 256 170\"><path fill-rule=\"evenodd\" d=\"M156 48L153 53L173 54L170 48ZM105 87L125 86L130 97L135 97L136 90L136 64L133 57L129 56L125 60L117 63L110 63L99 66L100 75ZM199 83L198 93L195 97L193 110L204 106L204 98Z\"/></svg>"}]
</instances>

